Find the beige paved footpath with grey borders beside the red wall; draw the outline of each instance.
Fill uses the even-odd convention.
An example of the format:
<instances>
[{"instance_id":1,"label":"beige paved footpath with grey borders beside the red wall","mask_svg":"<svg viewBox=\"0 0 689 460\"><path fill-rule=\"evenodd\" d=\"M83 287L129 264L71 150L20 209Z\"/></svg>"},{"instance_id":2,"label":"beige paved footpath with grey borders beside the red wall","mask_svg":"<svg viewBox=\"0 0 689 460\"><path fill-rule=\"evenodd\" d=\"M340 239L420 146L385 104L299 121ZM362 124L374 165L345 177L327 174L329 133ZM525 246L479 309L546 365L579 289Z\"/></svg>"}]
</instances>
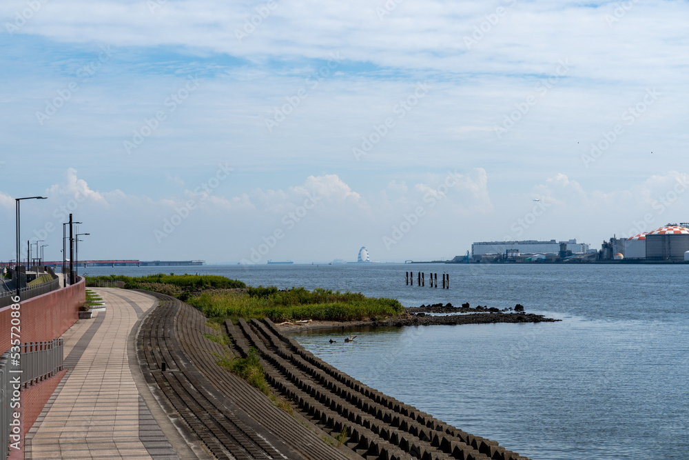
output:
<instances>
[{"instance_id":1,"label":"beige paved footpath with grey borders beside the red wall","mask_svg":"<svg viewBox=\"0 0 689 460\"><path fill-rule=\"evenodd\" d=\"M25 458L198 458L154 403L136 364L134 334L156 299L114 288L92 290L105 300L105 311L80 319L63 334L68 372L27 434Z\"/></svg>"}]
</instances>

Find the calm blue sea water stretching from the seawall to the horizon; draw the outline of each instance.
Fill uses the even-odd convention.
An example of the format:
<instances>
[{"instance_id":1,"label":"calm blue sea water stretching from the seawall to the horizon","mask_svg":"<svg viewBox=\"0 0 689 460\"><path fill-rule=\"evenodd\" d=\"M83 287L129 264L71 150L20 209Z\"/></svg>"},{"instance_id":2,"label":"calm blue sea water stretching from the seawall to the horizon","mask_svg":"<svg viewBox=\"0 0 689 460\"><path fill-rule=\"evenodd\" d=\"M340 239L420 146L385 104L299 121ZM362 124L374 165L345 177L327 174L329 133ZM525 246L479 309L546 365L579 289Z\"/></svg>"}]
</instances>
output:
<instances>
[{"instance_id":1,"label":"calm blue sea water stretching from the seawall to the horizon","mask_svg":"<svg viewBox=\"0 0 689 460\"><path fill-rule=\"evenodd\" d=\"M405 286L449 272L451 288ZM222 274L422 303L522 303L557 323L312 331L296 339L373 388L533 459L689 459L689 266L347 264L86 268ZM333 338L337 343L331 345Z\"/></svg>"}]
</instances>

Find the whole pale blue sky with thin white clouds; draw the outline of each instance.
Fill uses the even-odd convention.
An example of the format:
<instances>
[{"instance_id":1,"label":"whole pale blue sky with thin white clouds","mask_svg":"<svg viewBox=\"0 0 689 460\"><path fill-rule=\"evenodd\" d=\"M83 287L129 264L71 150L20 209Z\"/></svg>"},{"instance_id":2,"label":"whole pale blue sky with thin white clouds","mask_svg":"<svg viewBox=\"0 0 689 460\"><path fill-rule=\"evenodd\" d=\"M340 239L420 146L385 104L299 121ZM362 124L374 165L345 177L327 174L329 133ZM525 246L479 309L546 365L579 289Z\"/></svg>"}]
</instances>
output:
<instances>
[{"instance_id":1,"label":"whole pale blue sky with thin white clouds","mask_svg":"<svg viewBox=\"0 0 689 460\"><path fill-rule=\"evenodd\" d=\"M70 212L79 259L208 263L599 248L689 221L688 13L3 0L0 260L37 195L22 247L48 260Z\"/></svg>"}]
</instances>

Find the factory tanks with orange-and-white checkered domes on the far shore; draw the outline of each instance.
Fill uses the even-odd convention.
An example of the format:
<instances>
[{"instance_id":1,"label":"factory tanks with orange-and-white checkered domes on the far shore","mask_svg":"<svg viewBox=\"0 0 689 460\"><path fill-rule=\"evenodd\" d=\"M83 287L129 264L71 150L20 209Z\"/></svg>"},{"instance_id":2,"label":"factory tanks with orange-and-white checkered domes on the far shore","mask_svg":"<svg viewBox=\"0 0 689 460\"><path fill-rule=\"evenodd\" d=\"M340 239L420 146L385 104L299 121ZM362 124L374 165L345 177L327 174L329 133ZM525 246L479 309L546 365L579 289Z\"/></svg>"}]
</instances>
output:
<instances>
[{"instance_id":1,"label":"factory tanks with orange-and-white checkered domes on the far shore","mask_svg":"<svg viewBox=\"0 0 689 460\"><path fill-rule=\"evenodd\" d=\"M689 223L668 223L648 233L604 241L601 260L689 261Z\"/></svg>"}]
</instances>

